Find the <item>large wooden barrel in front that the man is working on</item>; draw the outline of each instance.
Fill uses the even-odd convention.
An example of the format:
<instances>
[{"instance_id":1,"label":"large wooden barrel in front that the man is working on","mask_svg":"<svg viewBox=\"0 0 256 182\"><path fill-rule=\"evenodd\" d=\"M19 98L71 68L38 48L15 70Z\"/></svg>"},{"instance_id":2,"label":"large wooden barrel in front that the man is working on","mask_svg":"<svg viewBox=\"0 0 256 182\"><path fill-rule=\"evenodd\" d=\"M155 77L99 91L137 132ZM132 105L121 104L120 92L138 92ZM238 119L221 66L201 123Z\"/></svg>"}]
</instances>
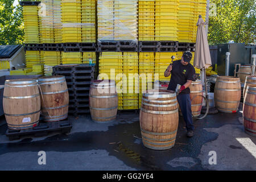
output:
<instances>
[{"instance_id":1,"label":"large wooden barrel in front that the man is working on","mask_svg":"<svg viewBox=\"0 0 256 182\"><path fill-rule=\"evenodd\" d=\"M173 91L143 94L139 121L144 146L154 150L167 150L174 146L179 123L178 107Z\"/></svg>"}]
</instances>

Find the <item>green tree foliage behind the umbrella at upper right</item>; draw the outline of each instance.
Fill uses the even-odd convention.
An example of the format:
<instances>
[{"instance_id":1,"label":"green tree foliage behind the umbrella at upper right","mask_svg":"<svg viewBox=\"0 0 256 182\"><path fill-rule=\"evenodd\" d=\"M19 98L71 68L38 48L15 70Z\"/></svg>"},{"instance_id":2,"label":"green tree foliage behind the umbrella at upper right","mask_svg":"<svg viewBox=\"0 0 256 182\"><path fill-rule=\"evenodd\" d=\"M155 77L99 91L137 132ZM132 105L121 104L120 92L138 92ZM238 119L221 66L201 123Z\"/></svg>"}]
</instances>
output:
<instances>
[{"instance_id":1,"label":"green tree foliage behind the umbrella at upper right","mask_svg":"<svg viewBox=\"0 0 256 182\"><path fill-rule=\"evenodd\" d=\"M208 41L216 45L255 43L255 0L210 0L217 7L216 16L209 16Z\"/></svg>"}]
</instances>

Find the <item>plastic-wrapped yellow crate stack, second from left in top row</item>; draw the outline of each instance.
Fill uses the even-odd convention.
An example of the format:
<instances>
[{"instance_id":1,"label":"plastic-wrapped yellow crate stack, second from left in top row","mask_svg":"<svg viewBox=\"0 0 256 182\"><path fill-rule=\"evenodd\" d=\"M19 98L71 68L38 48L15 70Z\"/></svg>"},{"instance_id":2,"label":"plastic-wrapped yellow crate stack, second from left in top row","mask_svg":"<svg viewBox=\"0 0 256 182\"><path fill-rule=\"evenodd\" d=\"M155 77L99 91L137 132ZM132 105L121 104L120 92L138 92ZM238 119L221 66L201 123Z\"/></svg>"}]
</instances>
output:
<instances>
[{"instance_id":1,"label":"plastic-wrapped yellow crate stack, second from left in top row","mask_svg":"<svg viewBox=\"0 0 256 182\"><path fill-rule=\"evenodd\" d=\"M42 43L55 43L54 41L54 18L53 18L53 0L41 1L42 13L42 29L40 34L42 35Z\"/></svg>"}]
</instances>

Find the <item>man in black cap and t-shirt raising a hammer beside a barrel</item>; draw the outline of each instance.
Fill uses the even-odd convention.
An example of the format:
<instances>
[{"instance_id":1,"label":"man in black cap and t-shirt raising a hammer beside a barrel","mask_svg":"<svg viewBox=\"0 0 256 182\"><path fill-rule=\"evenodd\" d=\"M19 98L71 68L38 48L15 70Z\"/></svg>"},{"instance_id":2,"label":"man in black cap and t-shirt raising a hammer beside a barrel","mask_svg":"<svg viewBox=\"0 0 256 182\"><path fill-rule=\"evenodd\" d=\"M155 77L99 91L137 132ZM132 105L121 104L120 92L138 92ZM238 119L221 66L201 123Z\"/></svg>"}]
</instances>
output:
<instances>
[{"instance_id":1,"label":"man in black cap and t-shirt raising a hammer beside a barrel","mask_svg":"<svg viewBox=\"0 0 256 182\"><path fill-rule=\"evenodd\" d=\"M177 84L182 85L180 87L180 93L177 96L177 101L179 102L180 110L186 123L188 137L193 137L194 135L191 99L189 96L190 90L188 87L191 85L192 81L195 81L196 71L195 68L189 63L191 59L192 53L190 51L185 51L181 57L181 60L174 61L173 64L170 64L164 72L165 77L172 74L167 90L175 91Z\"/></svg>"}]
</instances>

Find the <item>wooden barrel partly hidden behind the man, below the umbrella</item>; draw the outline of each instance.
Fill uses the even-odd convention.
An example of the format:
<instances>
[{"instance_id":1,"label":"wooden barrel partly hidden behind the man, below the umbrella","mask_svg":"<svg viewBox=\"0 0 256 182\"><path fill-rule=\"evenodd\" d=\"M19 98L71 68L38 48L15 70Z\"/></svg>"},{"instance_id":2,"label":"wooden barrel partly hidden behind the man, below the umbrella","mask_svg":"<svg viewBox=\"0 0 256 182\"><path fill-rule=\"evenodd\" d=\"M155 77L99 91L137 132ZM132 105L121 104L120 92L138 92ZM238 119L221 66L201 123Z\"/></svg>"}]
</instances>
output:
<instances>
[{"instance_id":1,"label":"wooden barrel partly hidden behind the man, below the umbrella","mask_svg":"<svg viewBox=\"0 0 256 182\"><path fill-rule=\"evenodd\" d=\"M200 81L193 81L189 86L191 98L191 110L193 117L198 117L201 114L203 106L203 85Z\"/></svg>"}]
</instances>

